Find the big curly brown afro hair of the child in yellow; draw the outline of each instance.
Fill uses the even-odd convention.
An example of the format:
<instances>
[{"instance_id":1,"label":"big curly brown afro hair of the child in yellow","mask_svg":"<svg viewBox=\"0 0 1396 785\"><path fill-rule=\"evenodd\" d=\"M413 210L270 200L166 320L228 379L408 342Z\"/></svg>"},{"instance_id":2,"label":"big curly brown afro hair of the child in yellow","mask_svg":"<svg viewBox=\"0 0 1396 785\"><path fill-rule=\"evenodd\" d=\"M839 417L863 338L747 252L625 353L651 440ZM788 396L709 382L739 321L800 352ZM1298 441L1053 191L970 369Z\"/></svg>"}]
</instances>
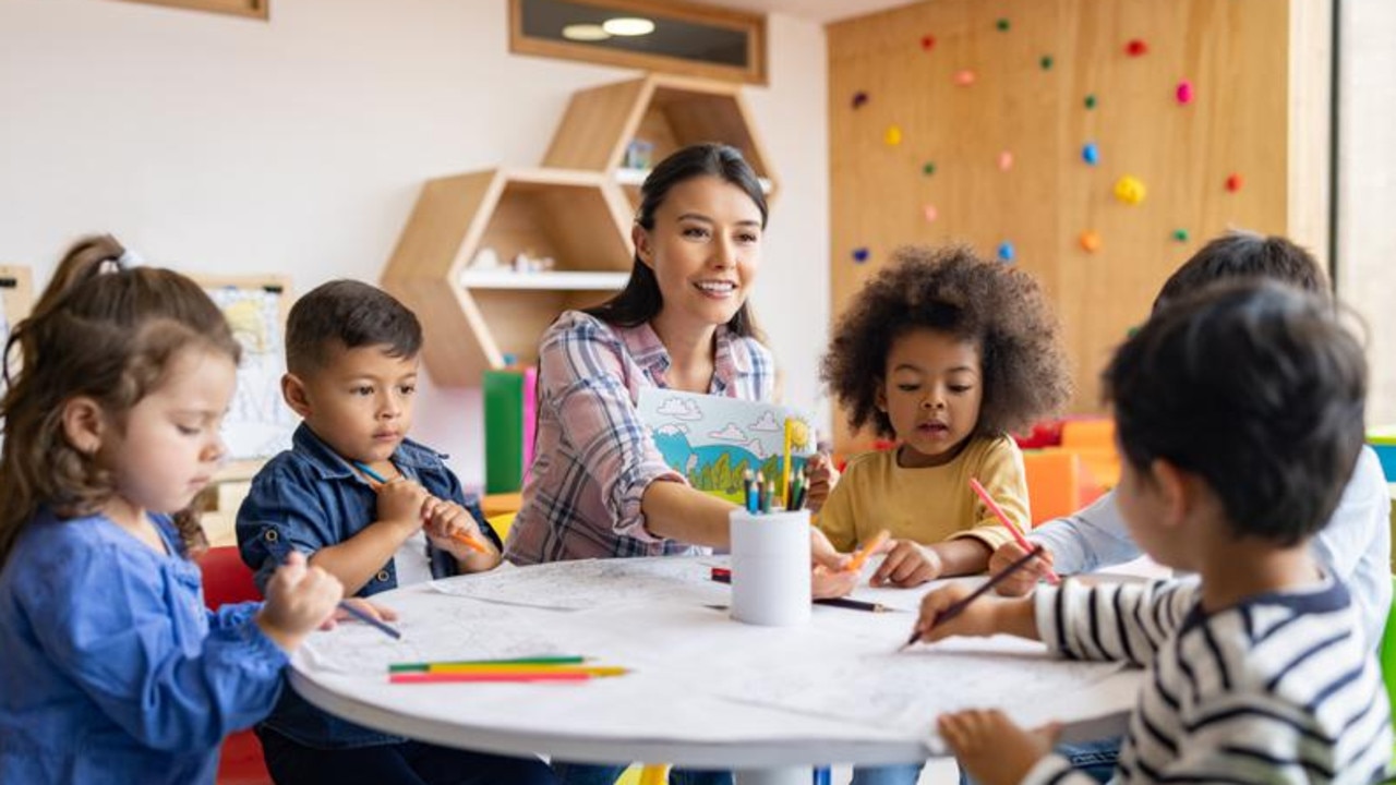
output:
<instances>
[{"instance_id":1,"label":"big curly brown afro hair of the child in yellow","mask_svg":"<svg viewBox=\"0 0 1396 785\"><path fill-rule=\"evenodd\" d=\"M1026 429L1071 395L1057 321L1026 272L986 261L963 246L909 246L892 254L849 303L833 330L821 377L847 409L849 423L893 437L878 411L892 342L935 330L979 348L983 402L974 433Z\"/></svg>"}]
</instances>

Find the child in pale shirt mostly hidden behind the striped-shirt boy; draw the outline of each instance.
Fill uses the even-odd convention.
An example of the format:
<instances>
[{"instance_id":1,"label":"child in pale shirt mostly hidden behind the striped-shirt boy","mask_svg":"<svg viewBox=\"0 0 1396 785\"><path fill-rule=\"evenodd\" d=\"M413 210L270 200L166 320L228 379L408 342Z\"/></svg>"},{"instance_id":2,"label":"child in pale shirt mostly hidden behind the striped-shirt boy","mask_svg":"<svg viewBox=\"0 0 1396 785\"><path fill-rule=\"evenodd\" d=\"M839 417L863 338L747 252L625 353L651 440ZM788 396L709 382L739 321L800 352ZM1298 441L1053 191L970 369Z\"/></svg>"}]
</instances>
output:
<instances>
[{"instance_id":1,"label":"child in pale shirt mostly hidden behind the striped-shirt boy","mask_svg":"<svg viewBox=\"0 0 1396 785\"><path fill-rule=\"evenodd\" d=\"M1164 282L1154 310L1219 281L1263 278L1328 296L1328 281L1314 257L1277 236L1228 232L1203 246ZM1362 631L1374 650L1386 626L1392 603L1390 490L1381 461L1362 448L1343 497L1326 527L1311 541L1314 556L1353 592L1362 617ZM1114 492L1094 504L1034 528L1027 538L1041 545L1044 557L998 585L1007 596L1033 589L1047 568L1060 574L1092 573L1138 559ZM988 563L998 573L1022 557L1018 543L998 548Z\"/></svg>"}]
</instances>

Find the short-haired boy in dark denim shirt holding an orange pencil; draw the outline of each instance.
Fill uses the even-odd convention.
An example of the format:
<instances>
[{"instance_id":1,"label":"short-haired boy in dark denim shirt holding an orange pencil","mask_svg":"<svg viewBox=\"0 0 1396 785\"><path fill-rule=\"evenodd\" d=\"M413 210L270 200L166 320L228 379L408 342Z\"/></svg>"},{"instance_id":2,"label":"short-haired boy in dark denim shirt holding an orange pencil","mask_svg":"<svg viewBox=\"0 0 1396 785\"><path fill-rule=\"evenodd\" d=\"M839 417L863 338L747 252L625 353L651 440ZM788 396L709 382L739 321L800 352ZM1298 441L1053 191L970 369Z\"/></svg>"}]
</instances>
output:
<instances>
[{"instance_id":1,"label":"short-haired boy in dark denim shirt holding an orange pencil","mask_svg":"<svg viewBox=\"0 0 1396 785\"><path fill-rule=\"evenodd\" d=\"M237 542L258 585L292 550L357 596L500 563L498 536L443 457L406 437L420 349L416 316L367 284L332 281L290 309L282 395L304 422L237 511ZM257 735L283 784L553 781L542 761L384 735L295 690L282 691Z\"/></svg>"}]
</instances>

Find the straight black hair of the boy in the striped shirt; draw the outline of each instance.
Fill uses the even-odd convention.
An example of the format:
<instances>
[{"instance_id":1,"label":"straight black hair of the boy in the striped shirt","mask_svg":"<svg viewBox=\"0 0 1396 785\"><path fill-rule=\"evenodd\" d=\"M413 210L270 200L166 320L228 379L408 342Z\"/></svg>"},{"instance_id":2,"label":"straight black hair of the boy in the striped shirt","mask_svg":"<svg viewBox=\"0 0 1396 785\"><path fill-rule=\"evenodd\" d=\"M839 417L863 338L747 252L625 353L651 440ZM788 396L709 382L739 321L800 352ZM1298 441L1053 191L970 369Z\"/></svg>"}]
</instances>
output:
<instances>
[{"instance_id":1,"label":"straight black hair of the boy in the striped shirt","mask_svg":"<svg viewBox=\"0 0 1396 785\"><path fill-rule=\"evenodd\" d=\"M1104 373L1124 457L1199 475L1237 536L1293 546L1337 506L1362 447L1367 366L1332 303L1272 281L1156 313Z\"/></svg>"}]
</instances>

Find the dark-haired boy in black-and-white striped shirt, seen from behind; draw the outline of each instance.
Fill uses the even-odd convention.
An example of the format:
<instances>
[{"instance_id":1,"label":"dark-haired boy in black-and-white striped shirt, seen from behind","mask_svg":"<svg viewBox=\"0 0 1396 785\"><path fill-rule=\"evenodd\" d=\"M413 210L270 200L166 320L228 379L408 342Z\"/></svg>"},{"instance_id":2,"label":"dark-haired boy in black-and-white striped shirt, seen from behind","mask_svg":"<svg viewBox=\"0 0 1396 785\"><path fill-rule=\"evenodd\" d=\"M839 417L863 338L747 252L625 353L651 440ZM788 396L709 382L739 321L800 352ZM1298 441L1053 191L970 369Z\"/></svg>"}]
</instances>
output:
<instances>
[{"instance_id":1,"label":"dark-haired boy in black-and-white striped shirt, seen from behind","mask_svg":"<svg viewBox=\"0 0 1396 785\"><path fill-rule=\"evenodd\" d=\"M1062 656L1146 666L1115 782L1376 782L1392 757L1381 673L1346 587L1314 560L1362 447L1365 363L1332 305L1266 282L1173 303L1106 370L1124 472L1115 490L1149 556L1184 582L926 598L923 640L1011 633ZM997 711L941 735L983 785L1092 782Z\"/></svg>"}]
</instances>

